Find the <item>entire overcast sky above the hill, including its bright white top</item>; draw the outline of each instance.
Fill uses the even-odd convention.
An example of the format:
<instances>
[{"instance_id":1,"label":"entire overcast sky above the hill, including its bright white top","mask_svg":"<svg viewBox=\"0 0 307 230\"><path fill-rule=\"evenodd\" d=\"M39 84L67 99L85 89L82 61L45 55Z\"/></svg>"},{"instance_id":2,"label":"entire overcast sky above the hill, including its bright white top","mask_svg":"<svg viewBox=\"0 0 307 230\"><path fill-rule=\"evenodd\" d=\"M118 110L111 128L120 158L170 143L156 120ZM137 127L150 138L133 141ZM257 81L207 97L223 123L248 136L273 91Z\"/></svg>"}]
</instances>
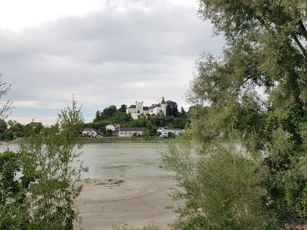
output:
<instances>
[{"instance_id":1,"label":"entire overcast sky above the hill, including its bright white top","mask_svg":"<svg viewBox=\"0 0 307 230\"><path fill-rule=\"evenodd\" d=\"M73 93L86 122L110 105L162 96L188 111L194 60L223 46L194 0L0 0L0 8L1 79L12 84L9 119L22 124L54 124Z\"/></svg>"}]
</instances>

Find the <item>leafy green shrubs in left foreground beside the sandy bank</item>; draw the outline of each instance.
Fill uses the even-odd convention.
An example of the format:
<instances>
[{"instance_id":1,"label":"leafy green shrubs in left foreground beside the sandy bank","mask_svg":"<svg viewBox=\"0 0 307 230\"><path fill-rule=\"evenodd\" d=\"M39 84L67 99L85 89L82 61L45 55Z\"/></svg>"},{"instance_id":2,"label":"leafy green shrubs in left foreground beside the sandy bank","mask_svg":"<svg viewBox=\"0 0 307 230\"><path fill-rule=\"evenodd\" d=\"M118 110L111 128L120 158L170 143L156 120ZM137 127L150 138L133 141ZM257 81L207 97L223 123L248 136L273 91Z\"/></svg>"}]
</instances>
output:
<instances>
[{"instance_id":1,"label":"leafy green shrubs in left foreground beside the sandy bank","mask_svg":"<svg viewBox=\"0 0 307 230\"><path fill-rule=\"evenodd\" d=\"M1 229L68 230L81 220L74 199L82 190L76 181L88 171L77 160L82 153L77 137L83 121L73 100L49 132L39 135L27 127L28 137L19 150L0 154Z\"/></svg>"}]
</instances>

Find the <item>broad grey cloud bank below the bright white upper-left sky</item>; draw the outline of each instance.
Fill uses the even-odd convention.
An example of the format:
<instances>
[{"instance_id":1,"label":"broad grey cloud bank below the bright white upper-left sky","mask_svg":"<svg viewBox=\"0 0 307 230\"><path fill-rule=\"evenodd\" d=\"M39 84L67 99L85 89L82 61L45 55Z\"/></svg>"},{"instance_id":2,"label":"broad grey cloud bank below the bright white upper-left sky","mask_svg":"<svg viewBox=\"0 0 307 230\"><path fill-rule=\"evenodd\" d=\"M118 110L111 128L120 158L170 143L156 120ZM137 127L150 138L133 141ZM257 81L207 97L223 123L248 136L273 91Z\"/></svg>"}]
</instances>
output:
<instances>
[{"instance_id":1,"label":"broad grey cloud bank below the bright white upper-left sky","mask_svg":"<svg viewBox=\"0 0 307 230\"><path fill-rule=\"evenodd\" d=\"M184 104L193 61L203 50L218 53L222 41L211 39L211 24L197 18L196 8L154 2L142 2L147 11L111 8L0 31L0 72L13 84L11 98L48 108L65 106L75 92L80 104L102 110L136 100L150 105L164 94Z\"/></svg>"}]
</instances>

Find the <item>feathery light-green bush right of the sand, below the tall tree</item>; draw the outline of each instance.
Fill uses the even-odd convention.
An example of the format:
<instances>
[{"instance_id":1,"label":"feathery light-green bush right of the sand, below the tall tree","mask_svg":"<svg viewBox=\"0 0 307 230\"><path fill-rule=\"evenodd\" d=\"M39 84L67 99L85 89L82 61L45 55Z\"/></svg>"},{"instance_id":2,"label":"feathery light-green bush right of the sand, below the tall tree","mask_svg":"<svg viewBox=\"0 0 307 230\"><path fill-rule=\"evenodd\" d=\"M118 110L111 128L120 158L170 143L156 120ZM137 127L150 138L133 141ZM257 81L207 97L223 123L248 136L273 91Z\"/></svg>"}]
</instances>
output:
<instances>
[{"instance_id":1,"label":"feathery light-green bush right of the sand, below the tall tree","mask_svg":"<svg viewBox=\"0 0 307 230\"><path fill-rule=\"evenodd\" d=\"M179 186L171 188L170 196L185 202L175 207L179 217L173 229L273 229L262 206L261 161L233 141L216 140L210 154L197 156L190 135L178 140L161 152Z\"/></svg>"}]
</instances>

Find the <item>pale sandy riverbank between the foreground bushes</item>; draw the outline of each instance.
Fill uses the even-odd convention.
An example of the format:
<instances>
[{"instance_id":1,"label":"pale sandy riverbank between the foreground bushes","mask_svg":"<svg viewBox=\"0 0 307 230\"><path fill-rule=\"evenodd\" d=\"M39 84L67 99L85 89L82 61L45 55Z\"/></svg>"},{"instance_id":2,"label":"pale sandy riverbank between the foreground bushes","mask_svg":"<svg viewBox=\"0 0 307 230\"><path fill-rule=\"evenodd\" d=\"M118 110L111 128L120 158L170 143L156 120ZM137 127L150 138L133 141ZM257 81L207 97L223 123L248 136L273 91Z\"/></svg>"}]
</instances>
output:
<instances>
[{"instance_id":1,"label":"pale sandy riverbank between the foreground bushes","mask_svg":"<svg viewBox=\"0 0 307 230\"><path fill-rule=\"evenodd\" d=\"M84 188L75 204L79 205L85 229L112 229L113 224L122 226L123 222L142 228L153 220L167 230L177 215L172 209L165 209L175 204L167 195L167 187L176 185L173 176L100 178L78 183Z\"/></svg>"}]
</instances>

